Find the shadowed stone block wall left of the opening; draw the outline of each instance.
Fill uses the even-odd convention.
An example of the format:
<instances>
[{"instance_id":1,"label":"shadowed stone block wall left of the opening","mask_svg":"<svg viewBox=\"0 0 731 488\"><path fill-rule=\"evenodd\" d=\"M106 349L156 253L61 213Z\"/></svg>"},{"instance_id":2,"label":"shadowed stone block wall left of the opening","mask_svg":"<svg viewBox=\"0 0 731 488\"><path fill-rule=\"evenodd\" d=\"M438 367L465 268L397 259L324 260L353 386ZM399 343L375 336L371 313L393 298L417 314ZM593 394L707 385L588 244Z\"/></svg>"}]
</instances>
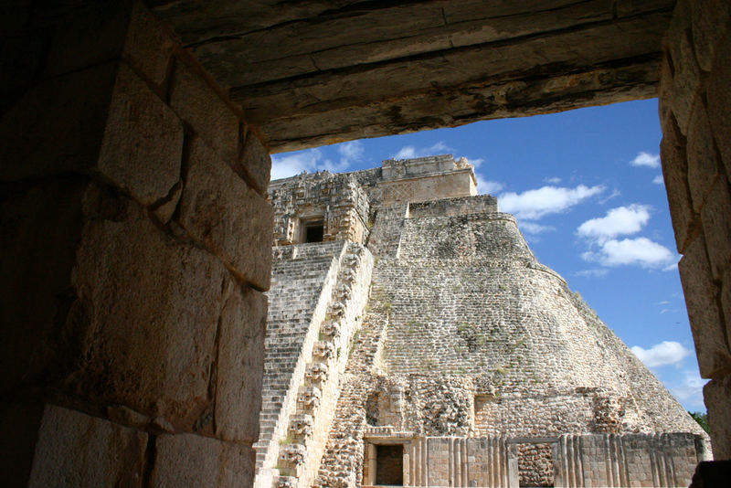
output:
<instances>
[{"instance_id":1,"label":"shadowed stone block wall left of the opening","mask_svg":"<svg viewBox=\"0 0 731 488\"><path fill-rule=\"evenodd\" d=\"M5 485L250 484L267 149L142 4L11 10L0 55Z\"/></svg>"}]
</instances>

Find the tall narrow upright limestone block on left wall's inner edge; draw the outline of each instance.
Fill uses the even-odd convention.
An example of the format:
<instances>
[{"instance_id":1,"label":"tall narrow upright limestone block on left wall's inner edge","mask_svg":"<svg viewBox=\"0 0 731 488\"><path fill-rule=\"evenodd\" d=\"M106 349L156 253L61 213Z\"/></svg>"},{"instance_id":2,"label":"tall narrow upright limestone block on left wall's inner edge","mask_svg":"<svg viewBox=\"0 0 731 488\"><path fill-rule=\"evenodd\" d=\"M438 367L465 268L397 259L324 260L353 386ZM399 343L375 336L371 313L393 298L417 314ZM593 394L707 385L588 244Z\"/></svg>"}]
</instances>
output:
<instances>
[{"instance_id":1,"label":"tall narrow upright limestone block on left wall's inner edge","mask_svg":"<svg viewBox=\"0 0 731 488\"><path fill-rule=\"evenodd\" d=\"M216 380L216 434L253 443L259 436L267 297L234 288L221 313Z\"/></svg>"}]
</instances>

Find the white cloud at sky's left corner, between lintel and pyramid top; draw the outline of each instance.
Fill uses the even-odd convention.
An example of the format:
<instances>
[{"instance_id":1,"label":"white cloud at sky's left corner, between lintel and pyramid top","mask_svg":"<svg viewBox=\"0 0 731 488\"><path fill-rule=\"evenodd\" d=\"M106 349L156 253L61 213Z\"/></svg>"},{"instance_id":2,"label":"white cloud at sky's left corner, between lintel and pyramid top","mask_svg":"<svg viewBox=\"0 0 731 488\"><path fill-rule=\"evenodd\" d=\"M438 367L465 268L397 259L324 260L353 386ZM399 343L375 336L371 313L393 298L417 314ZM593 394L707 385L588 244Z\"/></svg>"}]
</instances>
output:
<instances>
[{"instance_id":1,"label":"white cloud at sky's left corner, between lintel and pyramid top","mask_svg":"<svg viewBox=\"0 0 731 488\"><path fill-rule=\"evenodd\" d=\"M339 172L348 169L352 164L363 160L365 147L360 141L336 144L339 159L324 157L320 149L308 149L287 155L271 156L271 179L287 178L301 173L313 173L327 170Z\"/></svg>"}]
</instances>

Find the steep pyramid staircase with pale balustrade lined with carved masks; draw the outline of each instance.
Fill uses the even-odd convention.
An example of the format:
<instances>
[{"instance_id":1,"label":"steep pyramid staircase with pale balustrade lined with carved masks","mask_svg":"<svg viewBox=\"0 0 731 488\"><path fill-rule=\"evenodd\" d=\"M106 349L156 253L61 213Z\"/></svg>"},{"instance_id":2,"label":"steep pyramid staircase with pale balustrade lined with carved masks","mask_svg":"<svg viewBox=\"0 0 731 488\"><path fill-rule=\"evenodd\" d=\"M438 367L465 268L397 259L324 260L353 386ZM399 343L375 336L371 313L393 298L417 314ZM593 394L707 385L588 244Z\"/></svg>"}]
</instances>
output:
<instances>
[{"instance_id":1,"label":"steep pyramid staircase with pale balustrade lined with carved masks","mask_svg":"<svg viewBox=\"0 0 731 488\"><path fill-rule=\"evenodd\" d=\"M373 259L344 241L274 252L272 296L279 300L267 325L255 486L304 487L319 468Z\"/></svg>"}]
</instances>

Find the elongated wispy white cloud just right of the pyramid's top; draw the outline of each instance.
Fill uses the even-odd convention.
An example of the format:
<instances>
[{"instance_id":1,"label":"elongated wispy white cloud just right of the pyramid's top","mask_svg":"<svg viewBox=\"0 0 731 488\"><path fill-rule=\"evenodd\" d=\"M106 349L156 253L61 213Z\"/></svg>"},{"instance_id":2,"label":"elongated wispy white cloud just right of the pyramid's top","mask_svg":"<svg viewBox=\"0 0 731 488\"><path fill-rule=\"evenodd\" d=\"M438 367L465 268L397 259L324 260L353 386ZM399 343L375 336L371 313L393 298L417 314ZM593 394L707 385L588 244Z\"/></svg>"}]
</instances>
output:
<instances>
[{"instance_id":1,"label":"elongated wispy white cloud just right of the pyramid's top","mask_svg":"<svg viewBox=\"0 0 731 488\"><path fill-rule=\"evenodd\" d=\"M498 202L504 212L514 214L522 219L537 219L549 214L558 214L576 206L590 196L599 195L604 186L584 186L563 188L558 186L543 186L535 190L517 194L503 193Z\"/></svg>"}]
</instances>

